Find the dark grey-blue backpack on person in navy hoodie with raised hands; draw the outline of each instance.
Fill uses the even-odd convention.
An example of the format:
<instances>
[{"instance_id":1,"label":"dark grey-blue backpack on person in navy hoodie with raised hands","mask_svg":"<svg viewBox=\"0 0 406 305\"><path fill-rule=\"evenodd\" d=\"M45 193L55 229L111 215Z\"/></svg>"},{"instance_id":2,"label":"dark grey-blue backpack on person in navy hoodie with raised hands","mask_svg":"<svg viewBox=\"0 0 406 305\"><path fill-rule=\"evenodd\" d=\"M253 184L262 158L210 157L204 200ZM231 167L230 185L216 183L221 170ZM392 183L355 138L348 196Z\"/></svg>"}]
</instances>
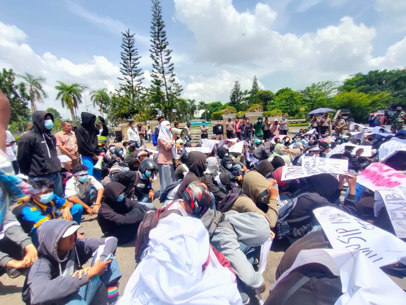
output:
<instances>
[{"instance_id":1,"label":"dark grey-blue backpack on person in navy hoodie with raised hands","mask_svg":"<svg viewBox=\"0 0 406 305\"><path fill-rule=\"evenodd\" d=\"M281 203L278 204L278 220L275 225L275 235L278 239L282 239L289 235L290 227L288 224L288 217L295 208L297 199L305 194L309 194L309 192L299 195L297 195L297 193L280 195Z\"/></svg>"}]
</instances>

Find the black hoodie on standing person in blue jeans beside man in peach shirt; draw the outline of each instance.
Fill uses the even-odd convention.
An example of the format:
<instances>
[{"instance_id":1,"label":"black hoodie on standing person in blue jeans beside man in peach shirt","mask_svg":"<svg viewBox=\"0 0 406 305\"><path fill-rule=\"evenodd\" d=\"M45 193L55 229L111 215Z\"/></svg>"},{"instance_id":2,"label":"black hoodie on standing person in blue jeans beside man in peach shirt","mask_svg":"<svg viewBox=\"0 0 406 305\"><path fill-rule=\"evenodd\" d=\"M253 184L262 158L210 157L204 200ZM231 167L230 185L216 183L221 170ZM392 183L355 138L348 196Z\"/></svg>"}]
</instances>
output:
<instances>
[{"instance_id":1,"label":"black hoodie on standing person in blue jeans beside man in peach shirt","mask_svg":"<svg viewBox=\"0 0 406 305\"><path fill-rule=\"evenodd\" d=\"M82 112L82 124L76 129L75 136L78 141L78 151L83 157L93 157L100 154L102 146L98 146L98 129L94 125L96 116L89 112ZM104 127L104 126L103 126ZM103 128L101 136L107 137L109 130Z\"/></svg>"}]
</instances>

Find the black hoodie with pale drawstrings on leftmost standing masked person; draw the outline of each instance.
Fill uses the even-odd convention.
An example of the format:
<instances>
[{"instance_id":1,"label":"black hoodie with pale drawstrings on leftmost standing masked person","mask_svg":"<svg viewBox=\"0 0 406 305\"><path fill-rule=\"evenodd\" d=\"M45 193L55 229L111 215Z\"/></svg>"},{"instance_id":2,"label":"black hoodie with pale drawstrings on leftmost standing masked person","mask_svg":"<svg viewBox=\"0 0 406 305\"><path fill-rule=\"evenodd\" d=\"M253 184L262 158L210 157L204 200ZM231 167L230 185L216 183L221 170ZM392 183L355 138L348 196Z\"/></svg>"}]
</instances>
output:
<instances>
[{"instance_id":1,"label":"black hoodie with pale drawstrings on leftmost standing masked person","mask_svg":"<svg viewBox=\"0 0 406 305\"><path fill-rule=\"evenodd\" d=\"M32 113L34 128L31 132L23 134L18 141L17 162L21 173L29 177L52 175L61 169L56 152L56 138L44 127L47 114L54 121L51 113L34 111Z\"/></svg>"}]
</instances>

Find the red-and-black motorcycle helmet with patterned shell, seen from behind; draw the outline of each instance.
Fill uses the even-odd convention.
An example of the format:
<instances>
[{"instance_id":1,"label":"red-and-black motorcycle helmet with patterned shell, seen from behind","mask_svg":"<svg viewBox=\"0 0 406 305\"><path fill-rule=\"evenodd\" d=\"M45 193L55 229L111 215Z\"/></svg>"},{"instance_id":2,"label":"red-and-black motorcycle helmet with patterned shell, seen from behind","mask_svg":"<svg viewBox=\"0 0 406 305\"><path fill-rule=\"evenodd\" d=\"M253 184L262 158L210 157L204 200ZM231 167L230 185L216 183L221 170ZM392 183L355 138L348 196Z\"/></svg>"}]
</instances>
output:
<instances>
[{"instance_id":1,"label":"red-and-black motorcycle helmet with patterned shell, seen from behind","mask_svg":"<svg viewBox=\"0 0 406 305\"><path fill-rule=\"evenodd\" d=\"M210 207L210 192L204 184L193 182L183 192L183 200L192 208L193 216L201 218Z\"/></svg>"}]
</instances>

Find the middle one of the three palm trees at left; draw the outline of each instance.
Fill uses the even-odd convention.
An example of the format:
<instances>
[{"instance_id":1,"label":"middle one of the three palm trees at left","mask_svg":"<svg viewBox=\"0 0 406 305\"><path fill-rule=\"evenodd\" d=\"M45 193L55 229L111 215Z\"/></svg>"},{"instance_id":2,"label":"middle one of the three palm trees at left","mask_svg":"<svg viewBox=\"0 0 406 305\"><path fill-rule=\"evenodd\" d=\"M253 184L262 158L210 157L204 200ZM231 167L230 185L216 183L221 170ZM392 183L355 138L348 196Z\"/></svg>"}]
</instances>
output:
<instances>
[{"instance_id":1,"label":"middle one of the three palm trees at left","mask_svg":"<svg viewBox=\"0 0 406 305\"><path fill-rule=\"evenodd\" d=\"M78 83L69 85L61 81L56 82L59 85L55 86L55 89L58 90L55 100L60 100L62 107L71 111L73 123L76 125L76 109L78 109L79 104L82 104L83 89Z\"/></svg>"}]
</instances>

